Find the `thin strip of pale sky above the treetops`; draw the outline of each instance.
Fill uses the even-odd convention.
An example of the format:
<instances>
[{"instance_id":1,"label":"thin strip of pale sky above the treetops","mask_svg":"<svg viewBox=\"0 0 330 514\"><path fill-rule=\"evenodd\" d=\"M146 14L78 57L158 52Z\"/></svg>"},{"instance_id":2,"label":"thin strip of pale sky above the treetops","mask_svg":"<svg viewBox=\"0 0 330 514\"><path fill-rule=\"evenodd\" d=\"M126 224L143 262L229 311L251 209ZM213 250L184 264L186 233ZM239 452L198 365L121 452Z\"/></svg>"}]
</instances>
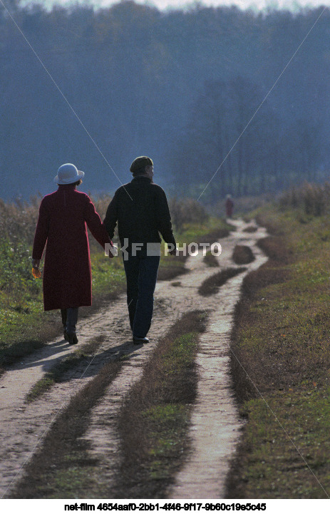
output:
<instances>
[{"instance_id":1,"label":"thin strip of pale sky above the treetops","mask_svg":"<svg viewBox=\"0 0 330 514\"><path fill-rule=\"evenodd\" d=\"M68 4L87 4L93 5L96 8L108 7L112 4L117 4L118 0L24 0L24 4L29 3L42 4L47 9L51 9L53 4L60 4L68 6ZM138 4L147 4L156 6L158 9L187 9L192 5L192 1L186 0L135 0ZM289 9L290 11L299 11L301 7L315 8L317 6L330 6L330 0L202 0L198 3L205 6L232 6L236 5L239 9L252 9L254 11L261 11L265 9Z\"/></svg>"}]
</instances>

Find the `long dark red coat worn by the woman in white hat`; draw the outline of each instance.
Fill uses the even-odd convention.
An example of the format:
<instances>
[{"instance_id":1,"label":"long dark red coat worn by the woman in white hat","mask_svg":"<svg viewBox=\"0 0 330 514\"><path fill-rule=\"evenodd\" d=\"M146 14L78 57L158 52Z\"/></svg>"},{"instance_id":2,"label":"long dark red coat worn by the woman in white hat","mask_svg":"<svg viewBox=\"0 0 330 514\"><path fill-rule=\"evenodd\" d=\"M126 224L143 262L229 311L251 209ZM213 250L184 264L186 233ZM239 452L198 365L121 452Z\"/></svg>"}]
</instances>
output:
<instances>
[{"instance_id":1,"label":"long dark red coat worn by the woman in white hat","mask_svg":"<svg viewBox=\"0 0 330 514\"><path fill-rule=\"evenodd\" d=\"M92 303L91 260L86 225L103 246L110 239L90 197L72 184L60 185L41 201L33 259L43 266L45 311L81 307Z\"/></svg>"}]
</instances>

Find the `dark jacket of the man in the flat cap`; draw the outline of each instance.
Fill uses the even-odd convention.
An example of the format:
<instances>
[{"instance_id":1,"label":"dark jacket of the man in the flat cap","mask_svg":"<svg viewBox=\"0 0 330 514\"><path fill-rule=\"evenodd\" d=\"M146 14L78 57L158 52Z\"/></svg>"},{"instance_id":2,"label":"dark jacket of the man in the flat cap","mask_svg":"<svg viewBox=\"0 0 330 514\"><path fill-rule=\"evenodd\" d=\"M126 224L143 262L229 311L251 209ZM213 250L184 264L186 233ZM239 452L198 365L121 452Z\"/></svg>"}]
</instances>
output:
<instances>
[{"instance_id":1,"label":"dark jacket of the man in the flat cap","mask_svg":"<svg viewBox=\"0 0 330 514\"><path fill-rule=\"evenodd\" d=\"M120 244L160 242L175 245L170 210L164 190L150 178L137 176L115 192L105 215L104 225L110 239L118 222Z\"/></svg>"}]
</instances>

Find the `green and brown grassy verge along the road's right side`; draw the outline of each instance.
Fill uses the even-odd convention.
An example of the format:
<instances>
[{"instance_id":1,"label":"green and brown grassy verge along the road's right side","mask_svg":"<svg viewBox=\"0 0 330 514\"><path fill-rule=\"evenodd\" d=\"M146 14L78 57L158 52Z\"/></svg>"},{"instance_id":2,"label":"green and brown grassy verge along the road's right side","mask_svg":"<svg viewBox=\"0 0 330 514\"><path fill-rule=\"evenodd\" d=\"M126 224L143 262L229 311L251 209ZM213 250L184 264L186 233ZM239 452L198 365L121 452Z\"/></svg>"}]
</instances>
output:
<instances>
[{"instance_id":1,"label":"green and brown grassy verge along the road's right side","mask_svg":"<svg viewBox=\"0 0 330 514\"><path fill-rule=\"evenodd\" d=\"M269 261L247 275L235 312L232 375L246 425L228 498L330 495L330 222L259 213Z\"/></svg>"}]
</instances>

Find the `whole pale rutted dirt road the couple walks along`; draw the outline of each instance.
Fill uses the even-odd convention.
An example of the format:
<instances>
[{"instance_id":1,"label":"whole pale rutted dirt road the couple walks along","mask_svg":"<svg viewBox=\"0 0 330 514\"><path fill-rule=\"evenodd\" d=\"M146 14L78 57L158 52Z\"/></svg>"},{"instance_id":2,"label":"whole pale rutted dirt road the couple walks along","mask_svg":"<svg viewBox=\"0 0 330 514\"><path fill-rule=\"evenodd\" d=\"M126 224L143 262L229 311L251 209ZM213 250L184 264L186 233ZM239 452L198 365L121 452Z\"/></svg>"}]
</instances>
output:
<instances>
[{"instance_id":1,"label":"whole pale rutted dirt road the couple walks along","mask_svg":"<svg viewBox=\"0 0 330 514\"><path fill-rule=\"evenodd\" d=\"M103 400L93 409L91 424L85 438L91 443L91 453L100 459L102 473L108 483L118 459L118 435L115 418L120 400L133 382L140 378L142 366L150 351L165 335L170 324L184 312L204 309L209 314L207 331L202 334L197 362L200 371L197 402L192 415L190 436L192 451L185 467L176 477L168 498L222 498L228 463L239 437L241 421L232 397L228 346L232 327L232 312L239 299L244 275L256 269L266 258L256 246L264 237L262 228L244 232L242 220L234 220L237 230L221 240L220 268L235 267L232 252L235 245L248 245L256 259L247 270L230 279L217 294L202 297L198 287L219 271L207 267L202 253L187 259L190 272L169 282L158 282L155 292L155 314L150 329L150 344L133 346L128 325L125 295L115 304L101 309L79 325L79 340L87 342L103 336L103 344L86 367L75 369L67 381L56 384L32 404L24 398L31 386L63 356L76 347L68 346L61 337L37 351L19 365L13 366L0 380L0 497L10 497L10 490L24 473L24 466L36 447L42 443L51 423L73 394L86 385L114 355L129 354L129 365L109 386ZM180 284L179 284L180 282ZM174 283L174 284L173 284ZM111 437L109 438L109 433ZM109 443L110 441L110 443Z\"/></svg>"}]
</instances>

